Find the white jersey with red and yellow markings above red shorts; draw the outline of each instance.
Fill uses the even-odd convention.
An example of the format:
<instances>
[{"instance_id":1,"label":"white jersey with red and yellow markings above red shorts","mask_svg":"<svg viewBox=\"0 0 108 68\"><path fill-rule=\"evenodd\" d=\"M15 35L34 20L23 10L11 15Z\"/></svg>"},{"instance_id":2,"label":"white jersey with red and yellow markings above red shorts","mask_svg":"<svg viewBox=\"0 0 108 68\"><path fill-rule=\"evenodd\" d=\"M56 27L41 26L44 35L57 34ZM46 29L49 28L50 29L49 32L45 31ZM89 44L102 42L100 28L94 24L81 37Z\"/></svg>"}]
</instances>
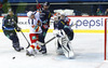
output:
<instances>
[{"instance_id":1,"label":"white jersey with red and yellow markings above red shorts","mask_svg":"<svg viewBox=\"0 0 108 68\"><path fill-rule=\"evenodd\" d=\"M41 24L41 21L39 18L33 18L33 19L29 18L28 25L29 25L30 33L41 33L42 29L39 26L40 24Z\"/></svg>"}]
</instances>

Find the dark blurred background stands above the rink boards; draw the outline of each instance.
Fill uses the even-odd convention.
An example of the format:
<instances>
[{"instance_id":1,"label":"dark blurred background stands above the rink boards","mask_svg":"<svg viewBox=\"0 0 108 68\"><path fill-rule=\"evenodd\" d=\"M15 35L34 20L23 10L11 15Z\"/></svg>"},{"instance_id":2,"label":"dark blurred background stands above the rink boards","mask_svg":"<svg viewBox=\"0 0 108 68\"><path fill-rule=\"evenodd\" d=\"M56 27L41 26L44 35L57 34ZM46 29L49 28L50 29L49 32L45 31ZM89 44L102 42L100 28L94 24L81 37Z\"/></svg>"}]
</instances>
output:
<instances>
[{"instance_id":1,"label":"dark blurred background stands above the rink boards","mask_svg":"<svg viewBox=\"0 0 108 68\"><path fill-rule=\"evenodd\" d=\"M0 0L2 4L6 3L6 6L11 6L14 13L26 13L27 11L36 11L36 0ZM108 8L108 0L38 0L41 4L45 1L51 2L50 10L75 10L76 15L87 13L89 15L95 15L96 10L99 8L104 13ZM97 2L100 2L97 4ZM104 3L105 2L105 3ZM26 5L19 4L26 3ZM60 4L59 4L60 3ZM84 3L84 4L83 4ZM90 4L92 3L92 4ZM6 13L6 8L2 8L2 13Z\"/></svg>"}]
</instances>

